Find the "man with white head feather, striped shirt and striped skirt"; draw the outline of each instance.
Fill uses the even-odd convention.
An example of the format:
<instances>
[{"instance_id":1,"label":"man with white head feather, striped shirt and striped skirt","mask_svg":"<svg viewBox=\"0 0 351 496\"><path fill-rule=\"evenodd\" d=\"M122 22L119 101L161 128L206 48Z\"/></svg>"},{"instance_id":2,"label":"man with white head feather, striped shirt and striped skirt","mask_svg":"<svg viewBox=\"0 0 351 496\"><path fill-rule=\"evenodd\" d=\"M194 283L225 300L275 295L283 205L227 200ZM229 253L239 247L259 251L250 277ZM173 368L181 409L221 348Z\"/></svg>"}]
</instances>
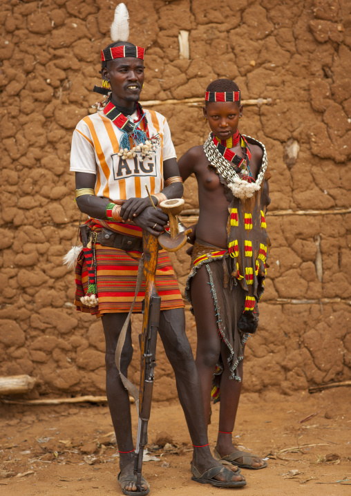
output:
<instances>
[{"instance_id":1,"label":"man with white head feather, striped shirt and striped skirt","mask_svg":"<svg viewBox=\"0 0 351 496\"><path fill-rule=\"evenodd\" d=\"M117 12L122 5L117 6L111 34L123 27L119 20L123 16ZM152 207L145 185L158 205L162 199L179 198L182 182L167 120L159 113L143 111L137 103L144 83L145 50L118 37L114 41L102 50L104 87L111 85L104 111L85 117L73 135L70 170L75 172L77 204L91 218L89 229L82 232L84 249L77 261L75 303L82 311L102 316L106 394L120 452L118 481L124 494L133 494L137 487L129 394L115 365L115 349L135 292L142 229L159 236L168 221L161 209ZM164 251L158 257L156 287L162 298L159 333L176 375L194 446L193 479L243 486L242 476L233 475L211 457L198 375L184 332L184 305ZM142 287L133 312L141 311L143 298ZM125 376L132 354L129 326L121 359ZM144 491L138 490L138 495L149 493L149 484L144 478L142 482Z\"/></svg>"}]
</instances>

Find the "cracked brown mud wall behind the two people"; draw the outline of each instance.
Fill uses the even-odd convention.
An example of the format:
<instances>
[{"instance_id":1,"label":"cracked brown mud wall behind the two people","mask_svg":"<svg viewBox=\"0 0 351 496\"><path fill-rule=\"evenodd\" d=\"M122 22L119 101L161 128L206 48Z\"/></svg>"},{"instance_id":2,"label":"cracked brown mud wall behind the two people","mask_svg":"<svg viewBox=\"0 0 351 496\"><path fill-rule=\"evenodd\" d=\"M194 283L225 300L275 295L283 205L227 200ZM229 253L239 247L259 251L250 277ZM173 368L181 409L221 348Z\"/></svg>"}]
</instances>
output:
<instances>
[{"instance_id":1,"label":"cracked brown mud wall behind the two people","mask_svg":"<svg viewBox=\"0 0 351 496\"><path fill-rule=\"evenodd\" d=\"M272 99L245 107L240 128L265 143L272 173L270 269L260 327L247 345L245 390L290 392L350 379L351 215L323 214L350 204L350 2L126 4L130 40L148 48L142 99L200 97L218 77L234 79L243 99ZM102 394L102 325L75 312L73 274L61 258L79 217L70 140L97 99L91 88L115 2L3 0L1 7L0 374L37 376L32 397ZM189 60L179 57L180 30L189 31ZM157 110L169 119L178 155L203 143L201 107ZM196 208L193 178L185 191L187 208ZM184 289L184 251L173 263ZM140 316L134 321L136 336ZM187 334L195 346L189 307ZM155 398L175 396L160 347Z\"/></svg>"}]
</instances>

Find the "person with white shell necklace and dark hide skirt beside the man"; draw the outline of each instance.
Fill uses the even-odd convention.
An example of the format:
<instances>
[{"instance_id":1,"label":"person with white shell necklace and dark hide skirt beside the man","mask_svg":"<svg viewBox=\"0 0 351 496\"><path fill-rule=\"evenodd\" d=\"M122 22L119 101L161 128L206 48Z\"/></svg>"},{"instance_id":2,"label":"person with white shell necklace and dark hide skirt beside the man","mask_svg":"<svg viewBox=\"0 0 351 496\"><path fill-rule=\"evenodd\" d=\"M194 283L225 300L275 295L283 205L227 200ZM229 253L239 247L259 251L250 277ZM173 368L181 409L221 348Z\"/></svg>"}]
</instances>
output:
<instances>
[{"instance_id":1,"label":"person with white shell necklace and dark hide skirt beside the man","mask_svg":"<svg viewBox=\"0 0 351 496\"><path fill-rule=\"evenodd\" d=\"M191 173L198 181L200 215L189 238L194 246L186 289L198 333L196 366L207 421L211 397L220 400L215 457L223 464L259 469L266 462L239 451L231 434L245 342L256 332L270 245L265 230L267 156L263 144L238 132L243 106L234 82L212 82L205 100L211 133L203 146L194 146L178 162L183 181Z\"/></svg>"}]
</instances>

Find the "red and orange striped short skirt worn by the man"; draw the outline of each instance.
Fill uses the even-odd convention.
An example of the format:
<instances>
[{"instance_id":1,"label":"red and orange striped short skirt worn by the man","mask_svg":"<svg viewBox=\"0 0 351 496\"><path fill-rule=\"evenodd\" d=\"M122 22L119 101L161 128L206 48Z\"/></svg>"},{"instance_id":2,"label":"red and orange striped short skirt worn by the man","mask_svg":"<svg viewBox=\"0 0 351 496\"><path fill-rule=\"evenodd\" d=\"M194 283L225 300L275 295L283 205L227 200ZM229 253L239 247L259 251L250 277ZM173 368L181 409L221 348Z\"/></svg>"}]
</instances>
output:
<instances>
[{"instance_id":1,"label":"red and orange striped short skirt worn by the man","mask_svg":"<svg viewBox=\"0 0 351 496\"><path fill-rule=\"evenodd\" d=\"M75 305L77 310L88 312L97 317L106 313L129 312L135 294L137 267L140 260L139 251L124 251L117 248L95 245L97 266L97 307L84 307L80 298L88 289L88 267L84 252L79 254L75 267ZM171 265L167 251L158 252L156 269L156 289L161 297L161 309L184 307L178 282ZM142 311L142 301L145 296L145 283L142 283L137 294L133 313Z\"/></svg>"}]
</instances>

